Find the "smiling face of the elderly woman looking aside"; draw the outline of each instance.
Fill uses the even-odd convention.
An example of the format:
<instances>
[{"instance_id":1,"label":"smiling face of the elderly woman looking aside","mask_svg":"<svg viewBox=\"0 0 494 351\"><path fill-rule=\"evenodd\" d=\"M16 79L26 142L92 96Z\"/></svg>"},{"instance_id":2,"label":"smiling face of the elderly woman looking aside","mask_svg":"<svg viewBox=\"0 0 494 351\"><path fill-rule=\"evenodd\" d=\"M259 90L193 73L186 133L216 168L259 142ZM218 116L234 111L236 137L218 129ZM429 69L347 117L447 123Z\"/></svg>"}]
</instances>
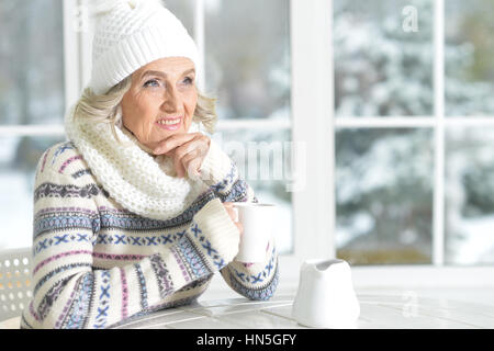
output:
<instances>
[{"instance_id":1,"label":"smiling face of the elderly woman looking aside","mask_svg":"<svg viewBox=\"0 0 494 351\"><path fill-rule=\"evenodd\" d=\"M176 133L187 133L198 103L194 64L186 57L153 61L132 75L122 99L122 122L151 150Z\"/></svg>"}]
</instances>

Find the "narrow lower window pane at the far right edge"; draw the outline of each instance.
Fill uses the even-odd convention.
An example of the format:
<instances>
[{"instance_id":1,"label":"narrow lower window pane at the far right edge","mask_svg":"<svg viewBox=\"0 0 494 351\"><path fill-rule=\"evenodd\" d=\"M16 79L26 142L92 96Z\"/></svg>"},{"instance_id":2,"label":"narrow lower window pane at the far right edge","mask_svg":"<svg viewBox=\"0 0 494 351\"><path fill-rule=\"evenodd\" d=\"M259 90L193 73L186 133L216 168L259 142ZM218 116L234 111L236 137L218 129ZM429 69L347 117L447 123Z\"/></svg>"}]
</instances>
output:
<instances>
[{"instance_id":1,"label":"narrow lower window pane at the far right edge","mask_svg":"<svg viewBox=\"0 0 494 351\"><path fill-rule=\"evenodd\" d=\"M493 140L493 128L447 128L447 263L494 263Z\"/></svg>"}]
</instances>

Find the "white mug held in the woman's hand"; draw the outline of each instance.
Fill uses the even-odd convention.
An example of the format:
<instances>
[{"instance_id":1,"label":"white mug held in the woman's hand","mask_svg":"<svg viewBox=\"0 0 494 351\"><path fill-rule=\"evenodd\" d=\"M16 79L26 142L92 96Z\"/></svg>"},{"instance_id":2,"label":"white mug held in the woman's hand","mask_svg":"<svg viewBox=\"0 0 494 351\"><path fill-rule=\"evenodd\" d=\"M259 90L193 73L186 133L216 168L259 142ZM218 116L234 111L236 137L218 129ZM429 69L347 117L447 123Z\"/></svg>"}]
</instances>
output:
<instances>
[{"instance_id":1,"label":"white mug held in the woman's hand","mask_svg":"<svg viewBox=\"0 0 494 351\"><path fill-rule=\"evenodd\" d=\"M235 261L245 263L263 262L269 239L273 234L276 220L276 205L234 202L236 222L244 227L240 245Z\"/></svg>"}]
</instances>

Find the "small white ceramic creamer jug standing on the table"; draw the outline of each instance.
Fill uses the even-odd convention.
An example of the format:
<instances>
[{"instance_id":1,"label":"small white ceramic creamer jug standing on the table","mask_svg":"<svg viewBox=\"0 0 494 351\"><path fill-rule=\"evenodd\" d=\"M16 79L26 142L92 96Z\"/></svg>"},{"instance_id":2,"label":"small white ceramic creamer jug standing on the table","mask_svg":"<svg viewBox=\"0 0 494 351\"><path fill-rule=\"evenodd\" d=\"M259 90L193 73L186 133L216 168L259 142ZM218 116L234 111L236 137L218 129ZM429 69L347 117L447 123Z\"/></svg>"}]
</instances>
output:
<instances>
[{"instance_id":1,"label":"small white ceramic creamer jug standing on the table","mask_svg":"<svg viewBox=\"0 0 494 351\"><path fill-rule=\"evenodd\" d=\"M360 305L350 265L339 259L307 260L300 270L292 316L312 328L355 328Z\"/></svg>"}]
</instances>

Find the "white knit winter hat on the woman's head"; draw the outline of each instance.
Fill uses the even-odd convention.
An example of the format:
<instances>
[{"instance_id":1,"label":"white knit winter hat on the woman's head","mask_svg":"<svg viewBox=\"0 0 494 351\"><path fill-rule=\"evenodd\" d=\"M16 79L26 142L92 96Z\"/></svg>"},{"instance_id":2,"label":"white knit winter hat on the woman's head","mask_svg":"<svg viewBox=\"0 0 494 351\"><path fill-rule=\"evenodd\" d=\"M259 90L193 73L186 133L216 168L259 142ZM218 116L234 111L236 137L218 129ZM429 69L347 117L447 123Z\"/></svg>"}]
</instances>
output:
<instances>
[{"instance_id":1,"label":"white knit winter hat on the woman's head","mask_svg":"<svg viewBox=\"0 0 494 351\"><path fill-rule=\"evenodd\" d=\"M199 50L183 24L159 0L93 1L97 18L89 88L96 94L164 57L188 57L199 77Z\"/></svg>"}]
</instances>

